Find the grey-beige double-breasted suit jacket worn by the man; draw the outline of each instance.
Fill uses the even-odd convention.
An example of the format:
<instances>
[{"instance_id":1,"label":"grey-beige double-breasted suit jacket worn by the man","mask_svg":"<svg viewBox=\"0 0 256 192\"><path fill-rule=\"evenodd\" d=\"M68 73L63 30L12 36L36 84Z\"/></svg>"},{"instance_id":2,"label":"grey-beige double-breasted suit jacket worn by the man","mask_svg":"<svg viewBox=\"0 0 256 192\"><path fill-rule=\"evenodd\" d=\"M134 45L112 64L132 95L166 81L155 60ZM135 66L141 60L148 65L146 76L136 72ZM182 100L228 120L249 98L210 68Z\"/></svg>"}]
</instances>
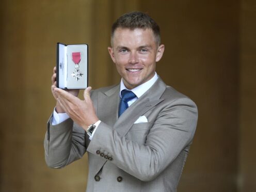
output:
<instances>
[{"instance_id":1,"label":"grey-beige double-breasted suit jacket worn by the man","mask_svg":"<svg viewBox=\"0 0 256 192\"><path fill-rule=\"evenodd\" d=\"M176 191L194 137L197 107L161 78L118 118L120 85L91 92L102 121L89 140L71 119L45 135L45 161L61 168L88 152L87 191ZM146 116L148 122L134 122Z\"/></svg>"}]
</instances>

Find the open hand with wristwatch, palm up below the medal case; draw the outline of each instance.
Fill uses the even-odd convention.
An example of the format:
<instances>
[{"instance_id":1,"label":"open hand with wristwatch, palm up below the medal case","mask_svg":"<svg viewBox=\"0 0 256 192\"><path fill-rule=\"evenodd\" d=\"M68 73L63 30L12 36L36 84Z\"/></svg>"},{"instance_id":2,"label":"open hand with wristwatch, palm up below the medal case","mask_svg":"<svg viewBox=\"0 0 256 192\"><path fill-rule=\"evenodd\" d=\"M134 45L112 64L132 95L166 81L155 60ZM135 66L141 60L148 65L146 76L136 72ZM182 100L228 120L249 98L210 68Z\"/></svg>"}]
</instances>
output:
<instances>
[{"instance_id":1,"label":"open hand with wristwatch, palm up below the medal case","mask_svg":"<svg viewBox=\"0 0 256 192\"><path fill-rule=\"evenodd\" d=\"M65 90L56 87L53 89L53 94L60 107L85 131L90 124L99 120L90 98L90 90L91 87L87 87L84 91L84 100L80 100Z\"/></svg>"}]
</instances>

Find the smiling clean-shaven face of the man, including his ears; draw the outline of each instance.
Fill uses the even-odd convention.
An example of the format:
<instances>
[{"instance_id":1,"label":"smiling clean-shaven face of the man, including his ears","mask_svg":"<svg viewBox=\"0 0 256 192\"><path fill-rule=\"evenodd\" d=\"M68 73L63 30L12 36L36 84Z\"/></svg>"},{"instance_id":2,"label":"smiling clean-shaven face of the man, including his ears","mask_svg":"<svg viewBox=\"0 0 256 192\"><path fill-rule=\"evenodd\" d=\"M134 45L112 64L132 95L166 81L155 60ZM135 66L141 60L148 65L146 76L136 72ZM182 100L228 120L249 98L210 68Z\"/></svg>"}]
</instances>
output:
<instances>
[{"instance_id":1,"label":"smiling clean-shaven face of the man, including his ears","mask_svg":"<svg viewBox=\"0 0 256 192\"><path fill-rule=\"evenodd\" d=\"M128 89L154 76L155 63L161 59L164 45L157 45L151 29L117 28L112 43L109 54Z\"/></svg>"}]
</instances>

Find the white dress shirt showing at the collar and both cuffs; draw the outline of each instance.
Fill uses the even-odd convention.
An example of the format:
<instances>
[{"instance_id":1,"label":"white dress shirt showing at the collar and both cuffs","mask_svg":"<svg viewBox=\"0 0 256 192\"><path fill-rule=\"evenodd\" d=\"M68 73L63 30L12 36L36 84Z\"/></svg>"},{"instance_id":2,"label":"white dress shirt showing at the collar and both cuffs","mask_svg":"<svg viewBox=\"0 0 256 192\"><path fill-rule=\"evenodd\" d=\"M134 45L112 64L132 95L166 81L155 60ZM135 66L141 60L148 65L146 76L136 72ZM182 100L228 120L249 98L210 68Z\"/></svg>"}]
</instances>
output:
<instances>
[{"instance_id":1,"label":"white dress shirt showing at the collar and both cuffs","mask_svg":"<svg viewBox=\"0 0 256 192\"><path fill-rule=\"evenodd\" d=\"M149 90L152 85L156 82L158 78L158 75L156 74L155 72L155 75L147 82L131 89L131 91L133 91L134 94L136 94L136 97L132 100L130 100L129 102L127 102L128 106L130 107L138 98L141 97L142 94L144 94L147 90ZM120 83L120 98L122 98L122 95L121 95L121 91L124 90L124 89L127 89L123 83L123 79L121 79L121 83ZM130 90L130 89L127 89L127 90ZM53 111L53 121L52 121L52 124L53 125L56 125L56 124L59 124L65 120L67 120L69 118L68 114L66 113L57 113L55 108L54 108L54 111ZM97 121L95 124L95 129L93 130L92 132L92 135L89 137L89 139L92 139L93 137L93 134L95 133L95 131L97 130L97 127L99 126L100 124L100 120Z\"/></svg>"}]
</instances>

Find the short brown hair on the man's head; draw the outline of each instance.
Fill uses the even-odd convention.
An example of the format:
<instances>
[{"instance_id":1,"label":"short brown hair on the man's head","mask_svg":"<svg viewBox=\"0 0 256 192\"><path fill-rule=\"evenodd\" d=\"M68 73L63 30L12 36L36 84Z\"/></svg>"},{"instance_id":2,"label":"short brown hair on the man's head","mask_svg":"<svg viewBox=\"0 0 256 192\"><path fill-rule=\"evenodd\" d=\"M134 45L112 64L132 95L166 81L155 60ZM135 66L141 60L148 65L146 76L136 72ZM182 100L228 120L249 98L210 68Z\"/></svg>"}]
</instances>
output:
<instances>
[{"instance_id":1,"label":"short brown hair on the man's head","mask_svg":"<svg viewBox=\"0 0 256 192\"><path fill-rule=\"evenodd\" d=\"M117 28L129 28L131 30L134 30L135 28L149 28L152 29L154 33L156 43L159 45L161 42L159 26L148 14L143 12L134 11L125 13L120 18L118 18L112 25L111 42Z\"/></svg>"}]
</instances>

